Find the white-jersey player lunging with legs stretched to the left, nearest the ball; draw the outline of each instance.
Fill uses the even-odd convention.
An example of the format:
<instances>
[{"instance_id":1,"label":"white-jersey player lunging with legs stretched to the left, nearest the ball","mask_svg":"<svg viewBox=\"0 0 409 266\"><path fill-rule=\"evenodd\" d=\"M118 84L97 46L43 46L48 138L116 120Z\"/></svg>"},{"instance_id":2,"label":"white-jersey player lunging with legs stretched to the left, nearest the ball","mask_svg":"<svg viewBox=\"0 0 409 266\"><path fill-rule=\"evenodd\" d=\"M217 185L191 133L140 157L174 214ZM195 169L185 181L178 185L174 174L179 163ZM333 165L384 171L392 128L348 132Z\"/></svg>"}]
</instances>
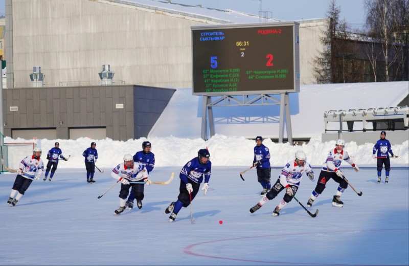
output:
<instances>
[{"instance_id":1,"label":"white-jersey player lunging with legs stretched to the left, nearest the ball","mask_svg":"<svg viewBox=\"0 0 409 266\"><path fill-rule=\"evenodd\" d=\"M303 178L303 173L308 175L311 181L315 180L314 172L312 171L311 165L306 162L307 156L305 152L299 150L296 152L296 159L289 161L284 168L281 170L281 174L274 186L261 198L261 200L250 209L253 213L266 204L269 200L275 198L282 190L285 189L286 193L283 200L276 207L272 216L280 215L280 210L284 208L291 200L292 197L297 193L298 187L300 186L301 179Z\"/></svg>"}]
</instances>

